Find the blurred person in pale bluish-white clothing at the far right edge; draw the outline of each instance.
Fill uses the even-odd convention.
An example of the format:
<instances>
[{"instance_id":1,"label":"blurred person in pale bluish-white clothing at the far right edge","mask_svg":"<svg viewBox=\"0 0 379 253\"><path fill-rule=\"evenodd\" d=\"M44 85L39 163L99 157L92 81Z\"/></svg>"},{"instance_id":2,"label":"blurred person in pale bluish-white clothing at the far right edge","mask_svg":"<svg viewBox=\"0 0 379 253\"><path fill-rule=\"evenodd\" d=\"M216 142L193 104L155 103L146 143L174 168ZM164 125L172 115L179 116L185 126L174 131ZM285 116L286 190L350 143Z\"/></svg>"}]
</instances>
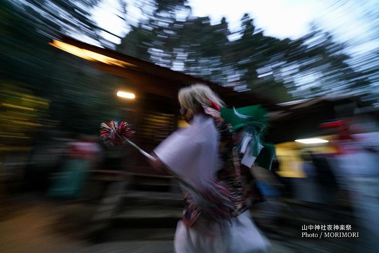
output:
<instances>
[{"instance_id":1,"label":"blurred person in pale bluish-white clothing at the far right edge","mask_svg":"<svg viewBox=\"0 0 379 253\"><path fill-rule=\"evenodd\" d=\"M362 228L362 241L357 250L374 252L379 246L379 132L367 132L364 125L360 126L354 129L360 133L338 142L344 152L332 164L341 186L349 192L354 215ZM351 128L344 129L345 136L351 133Z\"/></svg>"}]
</instances>

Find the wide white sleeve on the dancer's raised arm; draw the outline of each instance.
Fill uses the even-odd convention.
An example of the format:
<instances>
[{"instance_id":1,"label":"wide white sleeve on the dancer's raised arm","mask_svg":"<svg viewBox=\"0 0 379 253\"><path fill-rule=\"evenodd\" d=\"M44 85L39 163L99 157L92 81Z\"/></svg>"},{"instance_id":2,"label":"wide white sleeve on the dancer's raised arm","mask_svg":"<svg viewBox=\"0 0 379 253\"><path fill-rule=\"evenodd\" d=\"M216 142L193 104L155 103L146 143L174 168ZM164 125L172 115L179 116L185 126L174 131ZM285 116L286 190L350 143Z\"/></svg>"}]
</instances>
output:
<instances>
[{"instance_id":1,"label":"wide white sleeve on the dancer's raised arm","mask_svg":"<svg viewBox=\"0 0 379 253\"><path fill-rule=\"evenodd\" d=\"M172 133L154 152L179 177L195 188L202 188L216 174L217 138L213 119L196 115L190 127Z\"/></svg>"}]
</instances>

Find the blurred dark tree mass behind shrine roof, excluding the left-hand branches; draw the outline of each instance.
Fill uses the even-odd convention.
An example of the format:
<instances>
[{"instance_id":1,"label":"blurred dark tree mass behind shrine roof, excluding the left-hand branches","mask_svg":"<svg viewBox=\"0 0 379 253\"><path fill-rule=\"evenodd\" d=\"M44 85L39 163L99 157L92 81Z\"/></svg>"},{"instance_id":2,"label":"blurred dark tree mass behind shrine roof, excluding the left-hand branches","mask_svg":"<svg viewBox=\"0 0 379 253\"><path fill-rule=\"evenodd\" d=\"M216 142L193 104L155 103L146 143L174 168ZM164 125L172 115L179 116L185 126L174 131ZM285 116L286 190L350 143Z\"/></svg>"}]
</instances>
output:
<instances>
[{"instance_id":1,"label":"blurred dark tree mass behind shrine roof, excluding the left-hand branches","mask_svg":"<svg viewBox=\"0 0 379 253\"><path fill-rule=\"evenodd\" d=\"M238 38L230 39L225 18L211 24L190 11L177 18L175 10L183 8L183 1L156 7L132 26L117 50L273 102L371 88L370 78L348 64L345 44L316 26L298 39L278 39L265 36L245 14Z\"/></svg>"}]
</instances>

